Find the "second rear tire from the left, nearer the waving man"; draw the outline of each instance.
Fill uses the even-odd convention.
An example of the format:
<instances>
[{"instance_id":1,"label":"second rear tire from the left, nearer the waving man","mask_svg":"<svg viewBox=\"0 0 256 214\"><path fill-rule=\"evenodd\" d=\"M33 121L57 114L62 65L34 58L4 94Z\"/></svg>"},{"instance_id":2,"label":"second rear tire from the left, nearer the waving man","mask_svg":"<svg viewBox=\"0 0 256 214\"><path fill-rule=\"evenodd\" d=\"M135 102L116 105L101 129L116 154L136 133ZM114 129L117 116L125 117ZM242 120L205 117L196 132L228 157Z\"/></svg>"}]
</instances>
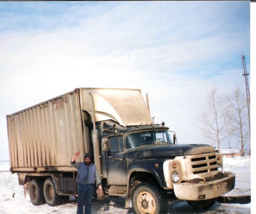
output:
<instances>
[{"instance_id":1,"label":"second rear tire from the left, nearer the waving man","mask_svg":"<svg viewBox=\"0 0 256 214\"><path fill-rule=\"evenodd\" d=\"M51 207L58 206L62 202L62 197L56 193L51 178L46 178L44 181L44 198L46 203Z\"/></svg>"}]
</instances>

